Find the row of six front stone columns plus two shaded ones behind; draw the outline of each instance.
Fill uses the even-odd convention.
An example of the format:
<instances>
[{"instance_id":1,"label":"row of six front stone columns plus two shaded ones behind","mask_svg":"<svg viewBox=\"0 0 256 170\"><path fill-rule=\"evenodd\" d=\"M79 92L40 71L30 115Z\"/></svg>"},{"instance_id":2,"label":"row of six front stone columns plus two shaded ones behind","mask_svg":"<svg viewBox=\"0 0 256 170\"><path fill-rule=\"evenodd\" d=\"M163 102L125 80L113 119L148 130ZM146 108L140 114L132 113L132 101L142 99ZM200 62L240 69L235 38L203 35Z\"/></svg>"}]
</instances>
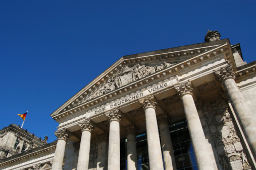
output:
<instances>
[{"instance_id":1,"label":"row of six front stone columns plus two shaded ones behind","mask_svg":"<svg viewBox=\"0 0 256 170\"><path fill-rule=\"evenodd\" d=\"M242 130L248 139L250 147L254 153L256 153L256 126L254 124L252 114L235 83L232 66L228 65L226 67L220 68L219 70L215 70L214 72L218 81L222 83L228 95L235 114L238 117L239 123L242 126ZM184 113L188 124L188 130L194 149L197 167L198 169L214 169L209 155L206 138L204 136L200 119L192 97L192 84L190 81L187 81L177 84L174 88L183 103ZM164 169L161 147L163 150L165 169L176 169L169 125L167 122L167 115L162 115L157 120L157 105L153 95L139 99L139 102L142 104L146 118L147 146L150 169ZM114 110L108 111L106 116L110 121L108 169L120 169L121 115L119 110L116 108ZM90 136L93 125L89 119L86 119L82 123L79 123L79 126L82 128L82 137L77 169L81 170L88 169ZM160 144L159 128L162 145ZM126 132L128 169L137 169L136 135L134 127L132 125L129 126ZM66 133L65 129L62 129L56 132L56 136L58 137L58 142L52 169L59 170L62 168L68 133Z\"/></svg>"}]
</instances>

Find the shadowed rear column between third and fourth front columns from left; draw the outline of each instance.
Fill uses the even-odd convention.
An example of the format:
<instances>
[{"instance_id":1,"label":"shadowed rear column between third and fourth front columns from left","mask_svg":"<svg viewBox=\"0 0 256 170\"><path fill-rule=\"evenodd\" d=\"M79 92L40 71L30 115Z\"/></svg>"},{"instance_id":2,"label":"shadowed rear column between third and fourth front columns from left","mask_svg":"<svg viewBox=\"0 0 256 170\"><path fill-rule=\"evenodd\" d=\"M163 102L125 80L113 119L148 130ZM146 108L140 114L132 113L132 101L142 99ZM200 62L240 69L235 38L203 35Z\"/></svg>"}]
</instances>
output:
<instances>
[{"instance_id":1,"label":"shadowed rear column between third and fourth front columns from left","mask_svg":"<svg viewBox=\"0 0 256 170\"><path fill-rule=\"evenodd\" d=\"M137 150L136 150L136 135L134 124L126 126L127 138L127 168L128 170L137 169Z\"/></svg>"}]
</instances>

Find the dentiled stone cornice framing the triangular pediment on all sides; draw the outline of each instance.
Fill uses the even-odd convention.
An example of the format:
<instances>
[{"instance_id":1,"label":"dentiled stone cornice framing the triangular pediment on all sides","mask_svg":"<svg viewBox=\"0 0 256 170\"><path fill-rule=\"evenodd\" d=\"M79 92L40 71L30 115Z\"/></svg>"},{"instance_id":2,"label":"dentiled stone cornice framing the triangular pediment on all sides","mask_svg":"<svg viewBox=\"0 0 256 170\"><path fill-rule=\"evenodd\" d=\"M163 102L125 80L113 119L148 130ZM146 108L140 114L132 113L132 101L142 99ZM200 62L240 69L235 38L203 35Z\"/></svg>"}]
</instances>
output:
<instances>
[{"instance_id":1,"label":"dentiled stone cornice framing the triangular pediment on all sides","mask_svg":"<svg viewBox=\"0 0 256 170\"><path fill-rule=\"evenodd\" d=\"M208 51L208 48L210 47L216 47L212 50ZM205 51L201 51L204 50ZM189 53L188 53L189 51ZM155 81L156 79L160 79L160 78L165 78L167 76L175 76L178 75L181 71L183 71L185 68L188 67L195 67L195 66L199 66L201 62L209 60L211 58L215 58L217 57L219 54L225 53L228 54L229 56L229 52L228 52L228 43L225 43L223 45L214 45L214 46L208 46L208 47L202 47L202 48L196 48L196 49L187 49L187 50L182 50L182 51L174 51L174 52L169 52L169 53L164 53L164 54L156 54L156 55L148 55L148 56L143 56L143 57L138 57L138 58L129 58L129 59L122 59L119 60L118 62L116 62L116 67L111 67L112 69L108 69L109 72L106 73L104 75L104 77L106 77L107 75L109 75L108 77L110 77L110 74L114 74L116 71L118 71L119 68L121 68L123 65L127 65L127 64L135 64L135 63L140 63L142 61L151 61L151 60L160 60L163 58L175 58L177 56L186 56L188 57L191 54L195 54L197 53L198 55L188 58L185 61L179 62L173 66L167 67L159 72L153 73L151 75L148 75L144 78L138 79L130 84L127 84L126 86L123 86L117 90L111 91L109 93L107 93L106 95L103 96L99 96L95 99L92 99L91 101L85 102L79 106L75 106L81 99L84 98L84 95L88 95L88 92L91 92L91 87L93 87L94 89L96 89L96 84L97 86L100 86L100 84L102 82L105 81L104 78L101 79L102 82L99 82L94 84L93 86L86 86L87 90L84 89L84 91L80 91L83 95L75 95L73 98L71 98L68 102L70 103L70 105L63 107L62 109L64 109L60 114L58 115L53 115L54 112L52 114L53 119L55 119L56 121L60 121L65 117L68 117L70 115L73 115L77 112L81 112L81 111L87 111L89 110L91 107L97 107L99 106L99 104L103 104L108 102L109 99L115 98L117 96L120 96L124 93L130 92L134 89L140 88L142 86L144 86L145 84L148 84L151 81ZM121 61L121 62L120 62ZM107 70L106 70L107 71ZM105 72L106 72L105 71ZM113 72L115 71L115 72ZM104 80L103 80L104 79ZM91 83L90 83L91 84ZM73 99L73 101L72 101ZM66 102L66 103L68 103ZM72 108L73 107L73 108ZM67 110L67 108L69 110Z\"/></svg>"}]
</instances>

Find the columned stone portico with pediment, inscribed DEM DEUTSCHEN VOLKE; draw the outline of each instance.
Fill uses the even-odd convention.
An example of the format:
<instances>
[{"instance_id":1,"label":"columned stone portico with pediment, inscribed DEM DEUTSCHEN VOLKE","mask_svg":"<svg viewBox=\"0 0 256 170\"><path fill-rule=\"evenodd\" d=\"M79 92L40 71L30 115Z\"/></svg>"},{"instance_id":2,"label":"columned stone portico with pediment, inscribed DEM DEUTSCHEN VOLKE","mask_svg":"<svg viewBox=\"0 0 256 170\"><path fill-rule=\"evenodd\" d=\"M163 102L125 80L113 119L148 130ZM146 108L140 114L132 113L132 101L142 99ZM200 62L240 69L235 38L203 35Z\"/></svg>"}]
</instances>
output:
<instances>
[{"instance_id":1,"label":"columned stone portico with pediment, inscribed DEM DEUTSCHEN VOLKE","mask_svg":"<svg viewBox=\"0 0 256 170\"><path fill-rule=\"evenodd\" d=\"M64 103L51 168L255 169L256 61L205 41L123 56Z\"/></svg>"}]
</instances>

